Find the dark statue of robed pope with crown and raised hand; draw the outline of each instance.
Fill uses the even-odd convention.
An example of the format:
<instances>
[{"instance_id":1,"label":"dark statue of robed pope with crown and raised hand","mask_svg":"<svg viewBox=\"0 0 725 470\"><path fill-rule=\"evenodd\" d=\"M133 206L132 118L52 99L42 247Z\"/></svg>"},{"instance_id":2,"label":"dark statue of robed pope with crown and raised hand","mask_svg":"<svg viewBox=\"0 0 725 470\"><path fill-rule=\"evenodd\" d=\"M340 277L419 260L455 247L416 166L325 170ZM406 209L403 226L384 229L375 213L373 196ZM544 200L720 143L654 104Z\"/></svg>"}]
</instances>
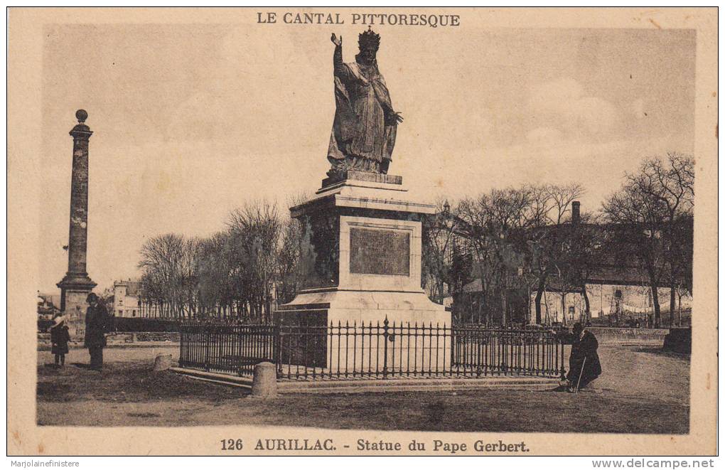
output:
<instances>
[{"instance_id":1,"label":"dark statue of robed pope with crown and raised hand","mask_svg":"<svg viewBox=\"0 0 725 470\"><path fill-rule=\"evenodd\" d=\"M388 173L395 131L402 116L393 110L388 87L378 70L380 35L371 28L358 38L355 62L342 62L342 38L333 33L335 120L332 125L328 176L346 170Z\"/></svg>"}]
</instances>

